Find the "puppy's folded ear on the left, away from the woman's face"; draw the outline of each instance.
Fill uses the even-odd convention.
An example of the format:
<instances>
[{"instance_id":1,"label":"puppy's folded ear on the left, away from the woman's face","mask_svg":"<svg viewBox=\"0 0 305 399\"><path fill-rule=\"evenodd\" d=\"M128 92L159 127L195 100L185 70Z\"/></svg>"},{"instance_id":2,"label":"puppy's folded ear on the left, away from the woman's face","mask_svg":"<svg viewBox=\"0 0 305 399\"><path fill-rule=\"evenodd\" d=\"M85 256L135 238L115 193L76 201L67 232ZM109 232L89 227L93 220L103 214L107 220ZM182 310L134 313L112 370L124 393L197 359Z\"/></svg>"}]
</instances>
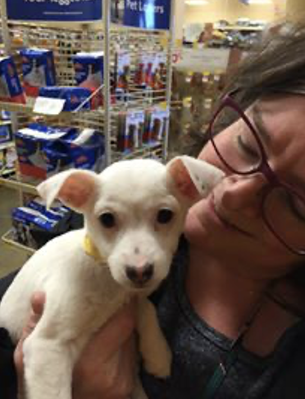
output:
<instances>
[{"instance_id":1,"label":"puppy's folded ear on the left, away from the woman's face","mask_svg":"<svg viewBox=\"0 0 305 399\"><path fill-rule=\"evenodd\" d=\"M47 208L58 198L66 206L82 212L94 197L96 183L94 172L71 169L45 180L39 184L37 191L46 201Z\"/></svg>"}]
</instances>

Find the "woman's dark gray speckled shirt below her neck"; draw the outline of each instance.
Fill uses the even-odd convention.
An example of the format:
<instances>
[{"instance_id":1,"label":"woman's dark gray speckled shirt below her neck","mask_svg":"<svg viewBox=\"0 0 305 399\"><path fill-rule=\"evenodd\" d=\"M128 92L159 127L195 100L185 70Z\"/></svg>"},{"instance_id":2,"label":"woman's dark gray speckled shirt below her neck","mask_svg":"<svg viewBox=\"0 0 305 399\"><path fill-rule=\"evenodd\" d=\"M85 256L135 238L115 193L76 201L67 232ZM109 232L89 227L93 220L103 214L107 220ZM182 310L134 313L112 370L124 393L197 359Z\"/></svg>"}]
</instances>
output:
<instances>
[{"instance_id":1,"label":"woman's dark gray speckled shirt below her neck","mask_svg":"<svg viewBox=\"0 0 305 399\"><path fill-rule=\"evenodd\" d=\"M166 380L142 370L142 383L149 399L206 399L204 391L208 381L231 350L232 341L194 312L185 291L187 267L188 246L182 240L168 279L151 298L172 349L173 364L171 376ZM227 367L227 374L213 399L305 397L304 320L283 334L269 356L256 356L242 344L236 347L234 354L235 359Z\"/></svg>"}]
</instances>

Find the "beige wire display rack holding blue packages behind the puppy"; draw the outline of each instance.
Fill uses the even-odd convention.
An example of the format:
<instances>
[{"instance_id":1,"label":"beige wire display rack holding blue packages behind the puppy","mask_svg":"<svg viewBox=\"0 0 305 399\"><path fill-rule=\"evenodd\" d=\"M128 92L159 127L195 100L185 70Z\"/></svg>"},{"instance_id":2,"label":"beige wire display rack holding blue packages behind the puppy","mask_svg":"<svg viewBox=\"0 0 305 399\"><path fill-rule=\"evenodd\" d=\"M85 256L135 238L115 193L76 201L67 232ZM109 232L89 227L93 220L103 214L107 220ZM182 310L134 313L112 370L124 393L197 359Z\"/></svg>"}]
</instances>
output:
<instances>
[{"instance_id":1,"label":"beige wire display rack holding blue packages behind the puppy","mask_svg":"<svg viewBox=\"0 0 305 399\"><path fill-rule=\"evenodd\" d=\"M129 111L146 111L152 106L160 106L169 111L172 87L172 54L174 6L171 1L170 29L143 30L119 26L111 23L111 0L103 1L103 20L85 24L45 24L8 21L6 0L0 0L1 31L4 53L14 56L20 68L18 50L21 47L52 49L55 56L57 85L75 86L72 55L78 52L104 51L104 85L102 89L103 106L91 111L62 112L56 116L34 113L33 102L25 105L0 102L0 109L12 114L13 131L27 126L30 122L39 121L49 126L71 126L94 128L104 135L105 164L129 158L158 158L165 161L168 157L169 118L166 120L164 135L155 143L143 145L129 151L117 150L117 131L119 115ZM115 95L113 76L118 51L127 51L130 55L130 74L136 72L139 57L145 54L163 54L166 59L163 71L163 87L158 90L139 89L129 86L125 101L119 101ZM19 69L20 71L20 69ZM14 176L0 177L0 185L20 190L21 194L35 194L38 182L25 179L17 172ZM4 242L12 245L5 235ZM17 245L20 248L20 245Z\"/></svg>"}]
</instances>

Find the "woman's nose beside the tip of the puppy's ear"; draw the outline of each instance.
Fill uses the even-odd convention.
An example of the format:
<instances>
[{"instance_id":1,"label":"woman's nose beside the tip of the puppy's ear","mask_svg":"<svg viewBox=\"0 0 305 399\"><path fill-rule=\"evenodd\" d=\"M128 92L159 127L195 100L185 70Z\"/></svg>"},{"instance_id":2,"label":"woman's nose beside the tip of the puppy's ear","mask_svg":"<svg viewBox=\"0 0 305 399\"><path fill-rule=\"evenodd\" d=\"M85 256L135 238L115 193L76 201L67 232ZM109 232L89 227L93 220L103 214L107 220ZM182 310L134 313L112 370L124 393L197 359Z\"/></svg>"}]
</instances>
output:
<instances>
[{"instance_id":1,"label":"woman's nose beside the tip of the puppy's ear","mask_svg":"<svg viewBox=\"0 0 305 399\"><path fill-rule=\"evenodd\" d=\"M225 209L242 211L248 217L258 217L265 186L266 180L260 173L228 176L223 180L221 204Z\"/></svg>"}]
</instances>

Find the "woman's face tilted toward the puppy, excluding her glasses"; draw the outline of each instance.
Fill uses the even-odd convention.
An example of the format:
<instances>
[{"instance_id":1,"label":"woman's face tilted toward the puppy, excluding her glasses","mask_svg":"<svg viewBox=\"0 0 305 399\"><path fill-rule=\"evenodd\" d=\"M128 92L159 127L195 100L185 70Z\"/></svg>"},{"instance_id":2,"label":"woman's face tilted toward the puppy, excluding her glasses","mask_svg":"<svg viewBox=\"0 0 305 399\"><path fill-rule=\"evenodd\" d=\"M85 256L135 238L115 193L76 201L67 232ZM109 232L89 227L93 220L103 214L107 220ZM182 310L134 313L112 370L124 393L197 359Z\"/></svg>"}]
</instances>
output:
<instances>
[{"instance_id":1,"label":"woman's face tilted toward the puppy, excluding her glasses","mask_svg":"<svg viewBox=\"0 0 305 399\"><path fill-rule=\"evenodd\" d=\"M259 132L271 168L305 198L305 97L291 95L259 101L255 104L255 113L255 120L260 123L254 122L251 108L247 115ZM235 123L215 138L223 156L237 157L235 162L239 162L239 158L243 162L242 154L236 150L239 133L240 127ZM258 269L263 268L261 275L276 277L289 271L290 265L301 258L286 249L262 219L260 204L265 178L259 173L232 174L210 142L199 158L224 170L227 177L208 198L190 209L186 236L191 245L240 267L255 263ZM292 228L294 226L287 226Z\"/></svg>"}]
</instances>

